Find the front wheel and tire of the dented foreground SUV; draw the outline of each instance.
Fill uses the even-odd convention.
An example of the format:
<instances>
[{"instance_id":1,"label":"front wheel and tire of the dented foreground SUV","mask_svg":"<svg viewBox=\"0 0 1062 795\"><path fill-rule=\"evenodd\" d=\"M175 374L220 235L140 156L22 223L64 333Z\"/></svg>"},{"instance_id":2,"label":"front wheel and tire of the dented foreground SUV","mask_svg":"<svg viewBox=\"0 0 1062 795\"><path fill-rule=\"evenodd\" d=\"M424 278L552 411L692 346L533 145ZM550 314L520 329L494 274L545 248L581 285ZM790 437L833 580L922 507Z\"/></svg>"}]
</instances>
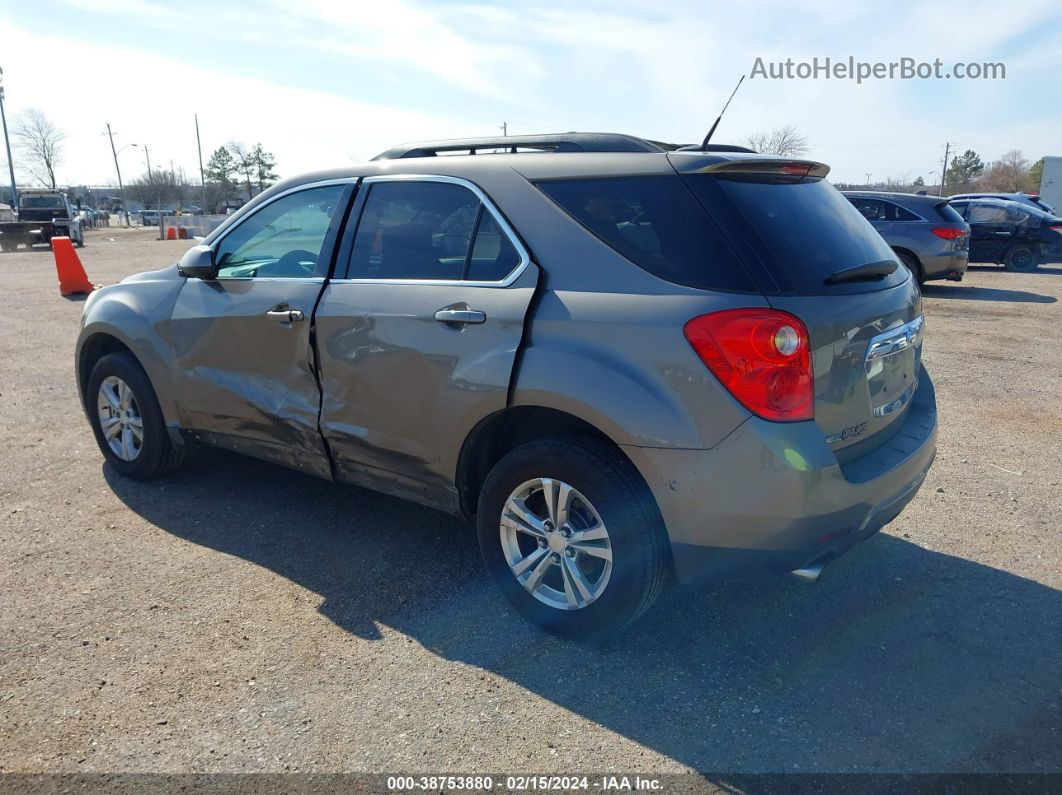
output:
<instances>
[{"instance_id":1,"label":"front wheel and tire of the dented foreground SUV","mask_svg":"<svg viewBox=\"0 0 1062 795\"><path fill-rule=\"evenodd\" d=\"M85 390L89 422L100 451L119 473L159 478L181 465L148 374L132 355L107 353L92 367Z\"/></svg>"}]
</instances>

